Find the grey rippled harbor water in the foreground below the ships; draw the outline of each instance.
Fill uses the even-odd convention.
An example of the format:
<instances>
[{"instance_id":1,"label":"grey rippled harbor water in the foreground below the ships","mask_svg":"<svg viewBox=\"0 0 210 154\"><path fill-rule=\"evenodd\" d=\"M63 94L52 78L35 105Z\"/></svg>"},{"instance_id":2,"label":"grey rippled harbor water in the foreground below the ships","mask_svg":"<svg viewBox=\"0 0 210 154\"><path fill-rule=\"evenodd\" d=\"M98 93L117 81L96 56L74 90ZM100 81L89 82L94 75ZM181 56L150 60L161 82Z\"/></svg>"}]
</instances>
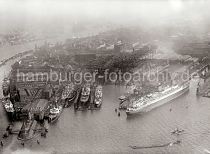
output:
<instances>
[{"instance_id":1,"label":"grey rippled harbor water in the foreground below the ships","mask_svg":"<svg viewBox=\"0 0 210 154\"><path fill-rule=\"evenodd\" d=\"M14 136L3 153L142 153L199 154L210 150L210 103L197 98L196 81L190 91L170 103L143 115L120 117L114 111L125 87L105 86L101 110L77 111L67 108L60 119L50 125L47 138L21 142ZM1 130L5 118L1 109ZM175 128L185 130L180 136L171 135ZM37 144L37 139L40 144ZM162 145L181 140L180 145L131 149L129 146Z\"/></svg>"}]
</instances>

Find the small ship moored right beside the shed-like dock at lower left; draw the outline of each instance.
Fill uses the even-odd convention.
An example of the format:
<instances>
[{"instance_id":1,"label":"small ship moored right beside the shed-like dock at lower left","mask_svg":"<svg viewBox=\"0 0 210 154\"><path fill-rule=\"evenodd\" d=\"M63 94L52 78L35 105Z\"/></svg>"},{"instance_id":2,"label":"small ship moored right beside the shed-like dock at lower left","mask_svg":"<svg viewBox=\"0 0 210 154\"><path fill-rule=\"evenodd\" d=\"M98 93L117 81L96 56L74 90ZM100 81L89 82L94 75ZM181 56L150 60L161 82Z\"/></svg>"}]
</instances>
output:
<instances>
[{"instance_id":1,"label":"small ship moored right beside the shed-like dock at lower left","mask_svg":"<svg viewBox=\"0 0 210 154\"><path fill-rule=\"evenodd\" d=\"M58 106L53 106L51 109L50 109L50 114L49 114L49 121L51 123L55 122L56 120L58 120L58 118L60 117L61 115L61 112L63 110L63 107L61 105L58 105Z\"/></svg>"}]
</instances>

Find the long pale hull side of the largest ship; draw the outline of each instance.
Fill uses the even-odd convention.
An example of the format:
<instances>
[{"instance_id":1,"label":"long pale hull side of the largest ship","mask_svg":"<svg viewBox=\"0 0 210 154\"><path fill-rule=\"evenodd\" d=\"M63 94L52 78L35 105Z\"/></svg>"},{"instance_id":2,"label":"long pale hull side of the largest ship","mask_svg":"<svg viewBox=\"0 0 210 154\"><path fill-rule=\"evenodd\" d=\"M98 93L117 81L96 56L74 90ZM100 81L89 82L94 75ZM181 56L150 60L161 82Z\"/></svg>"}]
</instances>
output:
<instances>
[{"instance_id":1,"label":"long pale hull side of the largest ship","mask_svg":"<svg viewBox=\"0 0 210 154\"><path fill-rule=\"evenodd\" d=\"M151 111L154 108L157 108L157 107L162 106L162 105L164 105L166 103L169 103L170 101L180 97L181 95L185 94L188 91L189 91L189 86L186 86L185 88L183 88L182 90L178 91L177 93L175 93L173 95L170 95L170 96L168 96L166 98L163 98L163 99L157 101L156 103L153 103L153 104L148 105L146 107L140 108L139 110L126 111L126 114L127 115L132 115L132 114L143 114L143 113L149 112L149 111Z\"/></svg>"}]
</instances>

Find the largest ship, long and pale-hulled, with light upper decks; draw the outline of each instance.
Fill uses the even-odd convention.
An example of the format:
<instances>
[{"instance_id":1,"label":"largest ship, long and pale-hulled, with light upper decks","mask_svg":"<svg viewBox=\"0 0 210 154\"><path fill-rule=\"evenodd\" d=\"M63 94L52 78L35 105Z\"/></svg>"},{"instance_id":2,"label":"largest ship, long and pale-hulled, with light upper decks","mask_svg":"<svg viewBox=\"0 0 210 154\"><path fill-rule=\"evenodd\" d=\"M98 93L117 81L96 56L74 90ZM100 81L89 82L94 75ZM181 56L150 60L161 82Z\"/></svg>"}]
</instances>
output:
<instances>
[{"instance_id":1,"label":"largest ship, long and pale-hulled, with light upper decks","mask_svg":"<svg viewBox=\"0 0 210 154\"><path fill-rule=\"evenodd\" d=\"M126 109L126 114L132 115L148 112L183 95L188 90L189 82L180 85L166 86L162 91L133 99L131 105Z\"/></svg>"}]
</instances>

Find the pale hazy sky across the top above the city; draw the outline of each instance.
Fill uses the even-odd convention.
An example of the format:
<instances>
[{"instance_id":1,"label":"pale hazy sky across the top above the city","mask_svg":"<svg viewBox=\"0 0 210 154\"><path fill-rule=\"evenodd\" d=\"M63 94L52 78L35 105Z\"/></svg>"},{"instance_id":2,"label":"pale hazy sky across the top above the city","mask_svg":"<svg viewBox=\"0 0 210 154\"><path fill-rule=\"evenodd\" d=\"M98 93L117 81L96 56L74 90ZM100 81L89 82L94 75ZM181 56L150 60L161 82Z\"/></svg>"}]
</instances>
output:
<instances>
[{"instance_id":1,"label":"pale hazy sky across the top above the city","mask_svg":"<svg viewBox=\"0 0 210 154\"><path fill-rule=\"evenodd\" d=\"M0 0L0 30L18 25L81 22L173 24L205 23L207 0Z\"/></svg>"}]
</instances>

